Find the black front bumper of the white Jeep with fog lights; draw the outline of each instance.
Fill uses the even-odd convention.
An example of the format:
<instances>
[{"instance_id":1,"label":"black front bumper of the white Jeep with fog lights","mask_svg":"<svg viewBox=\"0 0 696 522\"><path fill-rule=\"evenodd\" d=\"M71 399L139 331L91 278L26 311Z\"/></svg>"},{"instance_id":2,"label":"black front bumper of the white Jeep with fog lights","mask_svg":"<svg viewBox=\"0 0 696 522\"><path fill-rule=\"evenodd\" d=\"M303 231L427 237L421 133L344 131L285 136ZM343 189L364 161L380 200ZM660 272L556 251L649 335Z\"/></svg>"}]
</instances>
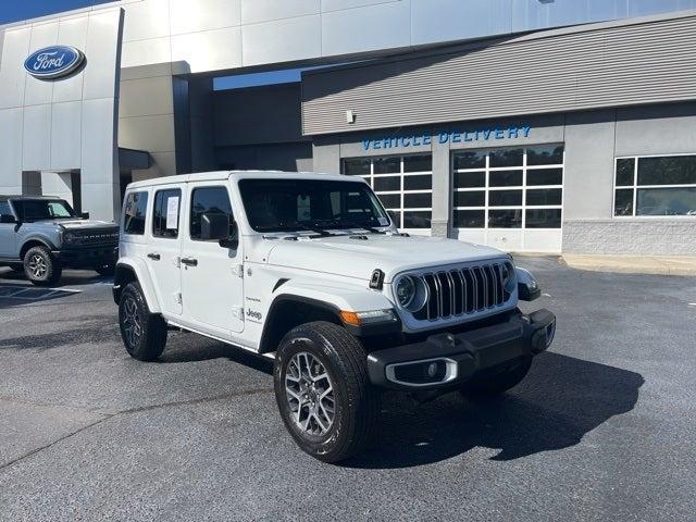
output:
<instances>
[{"instance_id":1,"label":"black front bumper of the white Jeep with fog lights","mask_svg":"<svg viewBox=\"0 0 696 522\"><path fill-rule=\"evenodd\" d=\"M456 387L540 353L555 333L556 316L538 310L470 332L435 334L422 343L372 351L368 356L370 381L395 389Z\"/></svg>"}]
</instances>

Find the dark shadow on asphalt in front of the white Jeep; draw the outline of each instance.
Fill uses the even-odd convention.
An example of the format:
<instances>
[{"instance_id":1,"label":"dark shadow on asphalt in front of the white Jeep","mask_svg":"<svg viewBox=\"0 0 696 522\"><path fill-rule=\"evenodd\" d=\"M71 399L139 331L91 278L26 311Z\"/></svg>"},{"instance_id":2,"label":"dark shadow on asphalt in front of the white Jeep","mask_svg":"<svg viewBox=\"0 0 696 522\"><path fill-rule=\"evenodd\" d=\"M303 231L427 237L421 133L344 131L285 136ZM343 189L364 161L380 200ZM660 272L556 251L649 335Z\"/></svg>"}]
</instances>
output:
<instances>
[{"instance_id":1,"label":"dark shadow on asphalt in front of the white Jeep","mask_svg":"<svg viewBox=\"0 0 696 522\"><path fill-rule=\"evenodd\" d=\"M613 415L631 411L638 373L559 353L538 356L527 377L483 401L449 394L421 406L385 394L377 445L348 468L408 468L438 462L474 447L499 450L492 460L574 446Z\"/></svg>"}]
</instances>

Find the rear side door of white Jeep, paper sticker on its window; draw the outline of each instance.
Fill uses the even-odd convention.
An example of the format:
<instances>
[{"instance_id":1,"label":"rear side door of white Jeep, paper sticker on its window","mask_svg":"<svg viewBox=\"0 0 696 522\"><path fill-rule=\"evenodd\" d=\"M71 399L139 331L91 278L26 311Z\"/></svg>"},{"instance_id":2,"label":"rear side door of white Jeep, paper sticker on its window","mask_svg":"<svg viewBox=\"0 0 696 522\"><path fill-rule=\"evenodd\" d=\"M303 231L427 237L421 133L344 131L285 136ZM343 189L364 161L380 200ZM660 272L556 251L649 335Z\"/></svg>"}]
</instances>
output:
<instances>
[{"instance_id":1,"label":"rear side door of white Jeep, paper sticker on its window","mask_svg":"<svg viewBox=\"0 0 696 522\"><path fill-rule=\"evenodd\" d=\"M181 220L184 184L158 185L152 190L152 219L145 262L162 311L182 314Z\"/></svg>"}]
</instances>

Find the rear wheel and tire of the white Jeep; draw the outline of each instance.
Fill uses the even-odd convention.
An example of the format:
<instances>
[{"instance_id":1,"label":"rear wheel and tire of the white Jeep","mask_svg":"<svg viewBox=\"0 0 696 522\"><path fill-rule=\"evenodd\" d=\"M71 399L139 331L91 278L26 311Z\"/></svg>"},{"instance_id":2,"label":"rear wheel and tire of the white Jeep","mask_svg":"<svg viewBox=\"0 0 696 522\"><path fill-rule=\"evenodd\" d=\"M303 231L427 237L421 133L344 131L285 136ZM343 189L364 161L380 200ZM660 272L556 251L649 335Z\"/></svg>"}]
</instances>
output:
<instances>
[{"instance_id":1,"label":"rear wheel and tire of the white Jeep","mask_svg":"<svg viewBox=\"0 0 696 522\"><path fill-rule=\"evenodd\" d=\"M128 283L119 301L119 326L126 351L139 361L153 361L166 346L166 322L150 312L138 283Z\"/></svg>"}]
</instances>

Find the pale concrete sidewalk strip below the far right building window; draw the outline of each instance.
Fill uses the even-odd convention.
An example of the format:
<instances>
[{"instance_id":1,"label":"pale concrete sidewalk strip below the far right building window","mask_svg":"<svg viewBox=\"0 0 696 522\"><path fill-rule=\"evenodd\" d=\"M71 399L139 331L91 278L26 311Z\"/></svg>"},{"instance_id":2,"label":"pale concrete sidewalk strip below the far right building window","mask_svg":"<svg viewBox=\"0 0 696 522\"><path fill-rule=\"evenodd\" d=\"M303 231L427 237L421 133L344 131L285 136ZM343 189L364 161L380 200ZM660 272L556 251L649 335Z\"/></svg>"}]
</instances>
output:
<instances>
[{"instance_id":1,"label":"pale concrete sidewalk strip below the far right building window","mask_svg":"<svg viewBox=\"0 0 696 522\"><path fill-rule=\"evenodd\" d=\"M696 257L686 256L584 256L566 253L566 264L593 272L696 276Z\"/></svg>"}]
</instances>

